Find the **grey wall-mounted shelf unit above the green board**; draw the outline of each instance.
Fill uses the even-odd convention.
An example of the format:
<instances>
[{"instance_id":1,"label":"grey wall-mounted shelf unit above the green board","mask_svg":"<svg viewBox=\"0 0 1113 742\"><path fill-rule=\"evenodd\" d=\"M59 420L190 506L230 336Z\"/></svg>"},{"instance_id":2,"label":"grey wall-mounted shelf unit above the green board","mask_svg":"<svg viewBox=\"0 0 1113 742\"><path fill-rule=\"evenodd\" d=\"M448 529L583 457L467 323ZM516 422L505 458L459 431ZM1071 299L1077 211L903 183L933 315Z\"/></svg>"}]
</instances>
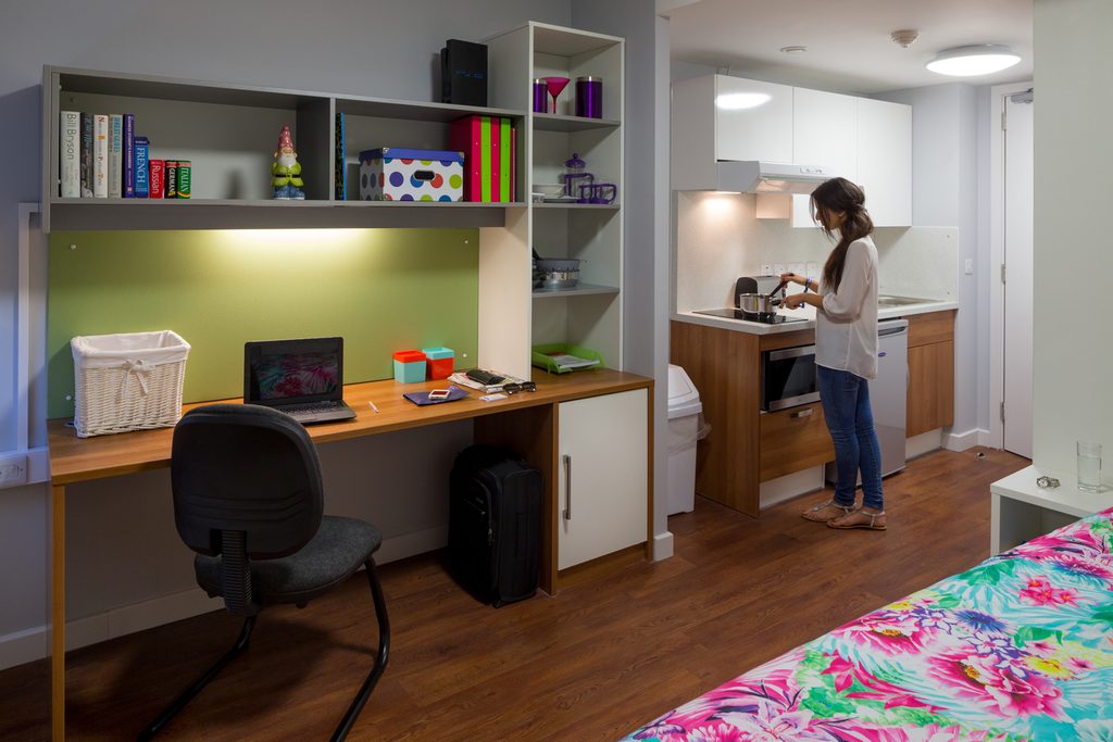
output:
<instances>
[{"instance_id":1,"label":"grey wall-mounted shelf unit above the green board","mask_svg":"<svg viewBox=\"0 0 1113 742\"><path fill-rule=\"evenodd\" d=\"M492 227L514 201L358 201L358 154L404 146L447 149L447 125L469 115L506 117L520 131L523 109L337 96L297 90L142 77L60 67L43 69L43 230L235 229L322 227ZM193 164L189 199L61 198L59 113L135 113L136 133L152 158ZM344 115L347 198L336 199L335 121ZM276 201L269 168L283 126L289 126L305 180L304 201ZM519 135L521 136L521 133ZM523 160L524 161L524 160ZM342 207L342 208L336 208Z\"/></svg>"}]
</instances>

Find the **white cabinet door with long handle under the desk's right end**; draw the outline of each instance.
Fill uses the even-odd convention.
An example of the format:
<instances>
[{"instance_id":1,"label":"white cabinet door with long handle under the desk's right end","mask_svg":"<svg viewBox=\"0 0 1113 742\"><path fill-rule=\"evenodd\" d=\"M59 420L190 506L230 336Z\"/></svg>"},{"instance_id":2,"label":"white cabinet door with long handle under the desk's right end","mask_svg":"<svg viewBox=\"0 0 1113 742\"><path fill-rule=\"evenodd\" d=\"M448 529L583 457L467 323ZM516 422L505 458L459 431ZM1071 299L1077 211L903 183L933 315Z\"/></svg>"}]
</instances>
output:
<instances>
[{"instance_id":1,"label":"white cabinet door with long handle under the desk's right end","mask_svg":"<svg viewBox=\"0 0 1113 742\"><path fill-rule=\"evenodd\" d=\"M561 403L559 570L646 541L647 405L647 389Z\"/></svg>"}]
</instances>

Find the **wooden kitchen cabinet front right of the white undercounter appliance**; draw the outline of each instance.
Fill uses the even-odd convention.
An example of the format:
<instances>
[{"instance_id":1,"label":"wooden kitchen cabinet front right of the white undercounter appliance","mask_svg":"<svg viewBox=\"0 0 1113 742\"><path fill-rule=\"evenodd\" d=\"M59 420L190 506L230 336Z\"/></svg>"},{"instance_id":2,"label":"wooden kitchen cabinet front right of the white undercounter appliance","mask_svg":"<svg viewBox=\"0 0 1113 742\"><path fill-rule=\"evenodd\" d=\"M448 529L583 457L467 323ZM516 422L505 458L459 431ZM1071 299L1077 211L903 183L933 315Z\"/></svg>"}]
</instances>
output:
<instances>
[{"instance_id":1,"label":"wooden kitchen cabinet front right of the white undercounter appliance","mask_svg":"<svg viewBox=\"0 0 1113 742\"><path fill-rule=\"evenodd\" d=\"M908 319L908 402L905 435L955 422L955 313Z\"/></svg>"}]
</instances>

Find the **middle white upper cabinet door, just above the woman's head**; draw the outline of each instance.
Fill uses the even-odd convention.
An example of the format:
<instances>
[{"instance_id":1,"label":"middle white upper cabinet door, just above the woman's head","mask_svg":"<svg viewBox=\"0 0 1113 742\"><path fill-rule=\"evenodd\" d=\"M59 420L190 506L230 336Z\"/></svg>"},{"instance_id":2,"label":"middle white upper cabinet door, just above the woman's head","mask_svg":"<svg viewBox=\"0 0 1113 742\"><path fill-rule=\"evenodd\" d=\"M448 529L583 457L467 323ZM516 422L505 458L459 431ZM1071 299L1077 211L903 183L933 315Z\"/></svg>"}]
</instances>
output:
<instances>
[{"instance_id":1,"label":"middle white upper cabinet door, just above the woman's head","mask_svg":"<svg viewBox=\"0 0 1113 742\"><path fill-rule=\"evenodd\" d=\"M858 99L792 88L792 157L820 165L830 177L858 181ZM792 197L792 226L814 227L809 196Z\"/></svg>"}]
</instances>

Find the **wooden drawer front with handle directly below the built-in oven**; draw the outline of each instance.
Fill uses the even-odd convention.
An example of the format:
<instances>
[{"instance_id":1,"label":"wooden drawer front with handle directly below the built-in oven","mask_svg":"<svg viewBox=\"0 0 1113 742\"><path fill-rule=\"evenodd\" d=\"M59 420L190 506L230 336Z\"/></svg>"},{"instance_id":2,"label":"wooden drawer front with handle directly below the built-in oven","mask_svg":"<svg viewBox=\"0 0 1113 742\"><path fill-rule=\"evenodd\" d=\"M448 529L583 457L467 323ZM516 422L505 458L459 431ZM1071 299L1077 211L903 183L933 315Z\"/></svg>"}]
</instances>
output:
<instances>
[{"instance_id":1,"label":"wooden drawer front with handle directly below the built-in oven","mask_svg":"<svg viewBox=\"0 0 1113 742\"><path fill-rule=\"evenodd\" d=\"M761 482L835 459L835 446L827 432L823 404L816 402L759 417Z\"/></svg>"}]
</instances>

